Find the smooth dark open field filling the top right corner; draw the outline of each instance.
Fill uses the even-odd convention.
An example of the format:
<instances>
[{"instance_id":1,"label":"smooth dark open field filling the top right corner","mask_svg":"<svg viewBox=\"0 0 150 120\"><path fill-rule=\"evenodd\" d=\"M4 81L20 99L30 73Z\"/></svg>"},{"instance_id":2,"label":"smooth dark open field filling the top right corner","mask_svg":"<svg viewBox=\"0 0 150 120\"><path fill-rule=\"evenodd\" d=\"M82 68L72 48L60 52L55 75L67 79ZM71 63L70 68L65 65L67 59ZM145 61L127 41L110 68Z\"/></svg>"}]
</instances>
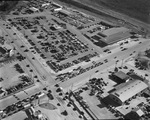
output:
<instances>
[{"instance_id":1,"label":"smooth dark open field filling the top right corner","mask_svg":"<svg viewBox=\"0 0 150 120\"><path fill-rule=\"evenodd\" d=\"M150 24L149 0L80 0L94 7L104 6Z\"/></svg>"}]
</instances>

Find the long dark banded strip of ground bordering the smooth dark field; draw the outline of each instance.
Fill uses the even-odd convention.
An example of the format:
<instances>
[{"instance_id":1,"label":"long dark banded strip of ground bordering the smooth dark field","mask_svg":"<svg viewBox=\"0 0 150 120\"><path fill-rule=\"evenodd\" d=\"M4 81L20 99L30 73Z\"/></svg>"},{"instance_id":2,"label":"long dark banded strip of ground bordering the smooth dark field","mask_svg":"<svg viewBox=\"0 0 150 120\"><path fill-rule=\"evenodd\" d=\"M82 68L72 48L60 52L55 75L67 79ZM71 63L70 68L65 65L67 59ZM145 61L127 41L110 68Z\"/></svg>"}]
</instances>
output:
<instances>
[{"instance_id":1,"label":"long dark banded strip of ground bordering the smooth dark field","mask_svg":"<svg viewBox=\"0 0 150 120\"><path fill-rule=\"evenodd\" d=\"M88 12L88 14L94 13L94 15L96 15L97 17L100 17L107 21L112 21L117 25L129 27L143 34L147 34L147 37L149 36L150 27L148 26L150 25L148 23L143 22L134 17L128 16L127 14L123 14L119 11L114 11L113 9L110 9L104 5L97 4L97 2L100 2L100 1L96 1L96 2L91 2L89 0L87 1L86 0L81 0L81 1L72 0L69 2L63 1L63 0L56 0L56 1L67 3L69 7L75 7L76 9L79 8L81 11ZM90 11L93 11L93 12L90 12ZM149 16L147 17L147 19L149 19Z\"/></svg>"}]
</instances>

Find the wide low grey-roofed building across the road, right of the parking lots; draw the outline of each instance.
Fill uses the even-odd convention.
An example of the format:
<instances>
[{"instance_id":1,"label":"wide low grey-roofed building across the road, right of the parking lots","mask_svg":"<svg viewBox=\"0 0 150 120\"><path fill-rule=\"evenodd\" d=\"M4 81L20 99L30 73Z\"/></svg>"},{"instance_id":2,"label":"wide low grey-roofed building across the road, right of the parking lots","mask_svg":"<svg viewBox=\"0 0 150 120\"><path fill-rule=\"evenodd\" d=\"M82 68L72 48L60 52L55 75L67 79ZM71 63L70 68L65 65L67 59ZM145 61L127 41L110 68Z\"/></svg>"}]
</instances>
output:
<instances>
[{"instance_id":1,"label":"wide low grey-roofed building across the road, right of the parking lots","mask_svg":"<svg viewBox=\"0 0 150 120\"><path fill-rule=\"evenodd\" d=\"M125 27L113 27L106 29L99 35L108 45L130 38L131 36L130 30Z\"/></svg>"}]
</instances>

